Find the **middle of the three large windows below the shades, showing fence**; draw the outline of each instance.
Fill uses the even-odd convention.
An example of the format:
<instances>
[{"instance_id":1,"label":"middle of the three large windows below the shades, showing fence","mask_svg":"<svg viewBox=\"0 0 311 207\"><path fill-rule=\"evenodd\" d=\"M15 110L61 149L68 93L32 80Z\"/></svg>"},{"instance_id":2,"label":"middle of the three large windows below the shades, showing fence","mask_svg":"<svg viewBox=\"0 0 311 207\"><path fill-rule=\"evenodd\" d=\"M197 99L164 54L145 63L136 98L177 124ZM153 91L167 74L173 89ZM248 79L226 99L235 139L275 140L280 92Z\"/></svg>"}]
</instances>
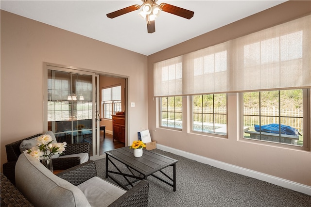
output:
<instances>
[{"instance_id":1,"label":"middle of the three large windows below the shades, showing fence","mask_svg":"<svg viewBox=\"0 0 311 207\"><path fill-rule=\"evenodd\" d=\"M226 94L192 96L192 130L227 134Z\"/></svg>"}]
</instances>

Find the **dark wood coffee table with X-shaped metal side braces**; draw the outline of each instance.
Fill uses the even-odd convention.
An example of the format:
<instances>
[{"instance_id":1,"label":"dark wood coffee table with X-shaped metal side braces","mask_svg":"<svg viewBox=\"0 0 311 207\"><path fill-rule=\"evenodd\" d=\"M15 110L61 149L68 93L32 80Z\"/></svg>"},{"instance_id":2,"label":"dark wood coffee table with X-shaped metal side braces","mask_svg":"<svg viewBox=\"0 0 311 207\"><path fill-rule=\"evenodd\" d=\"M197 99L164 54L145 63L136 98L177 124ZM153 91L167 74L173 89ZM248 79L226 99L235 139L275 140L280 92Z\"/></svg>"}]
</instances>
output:
<instances>
[{"instance_id":1,"label":"dark wood coffee table with X-shaped metal side braces","mask_svg":"<svg viewBox=\"0 0 311 207\"><path fill-rule=\"evenodd\" d=\"M131 185L133 187L133 183L142 179L147 180L147 177L149 175L152 175L155 178L161 180L162 182L172 186L173 191L176 191L176 162L178 160L145 149L143 150L143 155L141 157L135 158L133 155L133 149L130 149L129 147L122 147L119 149L106 151L105 153L106 153L106 178L110 177L113 181L118 183L118 185L120 185L123 189L128 190L127 186ZM116 160L123 163L131 174L121 172L121 170L117 167L115 163ZM116 168L117 171L108 170L109 162ZM173 178L162 171L162 169L169 166L173 166ZM138 176L134 175L132 170L138 172L139 175ZM165 175L173 183L166 181L161 177L158 177L157 175L154 175L154 173L158 171L161 172L163 175ZM124 179L128 182L128 184L123 185L114 176L109 174L122 175ZM129 180L130 177L135 178L135 180L130 181Z\"/></svg>"}]
</instances>

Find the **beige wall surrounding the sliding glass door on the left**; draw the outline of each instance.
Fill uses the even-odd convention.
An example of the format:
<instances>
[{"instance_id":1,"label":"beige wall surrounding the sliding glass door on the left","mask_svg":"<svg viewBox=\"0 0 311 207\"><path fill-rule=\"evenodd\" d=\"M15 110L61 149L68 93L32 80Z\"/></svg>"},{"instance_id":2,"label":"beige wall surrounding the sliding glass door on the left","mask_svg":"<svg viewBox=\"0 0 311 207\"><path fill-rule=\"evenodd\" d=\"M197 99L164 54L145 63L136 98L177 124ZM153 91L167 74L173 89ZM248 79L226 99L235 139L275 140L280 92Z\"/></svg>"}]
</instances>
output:
<instances>
[{"instance_id":1,"label":"beige wall surrounding the sliding glass door on the left","mask_svg":"<svg viewBox=\"0 0 311 207\"><path fill-rule=\"evenodd\" d=\"M128 78L129 143L147 128L146 56L2 10L0 20L1 169L5 144L44 132L43 62Z\"/></svg>"}]
</instances>

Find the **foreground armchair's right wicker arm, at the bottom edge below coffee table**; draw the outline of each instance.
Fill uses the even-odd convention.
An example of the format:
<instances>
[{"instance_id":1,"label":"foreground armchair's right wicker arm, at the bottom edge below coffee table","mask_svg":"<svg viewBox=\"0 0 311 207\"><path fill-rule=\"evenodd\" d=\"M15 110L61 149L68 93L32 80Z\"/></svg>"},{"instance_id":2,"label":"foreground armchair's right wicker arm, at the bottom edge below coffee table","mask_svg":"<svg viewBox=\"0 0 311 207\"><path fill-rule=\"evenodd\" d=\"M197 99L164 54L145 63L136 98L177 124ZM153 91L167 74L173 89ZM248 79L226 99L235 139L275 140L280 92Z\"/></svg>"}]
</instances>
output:
<instances>
[{"instance_id":1,"label":"foreground armchair's right wicker arm, at the bottom edge below coffee table","mask_svg":"<svg viewBox=\"0 0 311 207\"><path fill-rule=\"evenodd\" d=\"M147 207L149 182L141 180L108 207Z\"/></svg>"}]
</instances>

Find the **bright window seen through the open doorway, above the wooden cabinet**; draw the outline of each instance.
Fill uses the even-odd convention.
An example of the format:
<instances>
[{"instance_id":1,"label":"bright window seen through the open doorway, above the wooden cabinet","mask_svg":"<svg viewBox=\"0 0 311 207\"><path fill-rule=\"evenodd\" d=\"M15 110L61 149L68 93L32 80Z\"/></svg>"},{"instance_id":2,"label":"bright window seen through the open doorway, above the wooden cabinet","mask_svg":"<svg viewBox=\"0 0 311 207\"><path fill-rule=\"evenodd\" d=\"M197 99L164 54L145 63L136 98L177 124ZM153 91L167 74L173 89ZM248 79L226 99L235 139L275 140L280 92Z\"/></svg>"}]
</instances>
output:
<instances>
[{"instance_id":1,"label":"bright window seen through the open doorway, above the wooden cabinet","mask_svg":"<svg viewBox=\"0 0 311 207\"><path fill-rule=\"evenodd\" d=\"M116 111L121 111L121 85L102 89L102 117L111 119Z\"/></svg>"}]
</instances>

